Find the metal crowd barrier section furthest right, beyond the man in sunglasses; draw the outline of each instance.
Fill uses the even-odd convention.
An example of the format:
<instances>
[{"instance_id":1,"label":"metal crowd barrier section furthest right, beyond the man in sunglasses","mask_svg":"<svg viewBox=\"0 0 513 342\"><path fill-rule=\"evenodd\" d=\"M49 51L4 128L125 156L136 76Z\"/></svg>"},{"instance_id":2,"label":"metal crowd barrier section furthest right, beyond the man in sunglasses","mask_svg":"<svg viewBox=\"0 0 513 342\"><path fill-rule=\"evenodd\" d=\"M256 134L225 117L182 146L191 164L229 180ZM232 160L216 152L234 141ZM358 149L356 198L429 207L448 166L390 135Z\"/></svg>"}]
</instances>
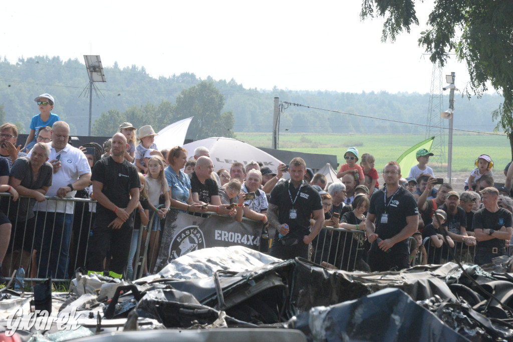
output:
<instances>
[{"instance_id":1,"label":"metal crowd barrier section furthest right, beyond the man in sunglasses","mask_svg":"<svg viewBox=\"0 0 513 342\"><path fill-rule=\"evenodd\" d=\"M461 261L461 263L473 264L474 256L476 254L476 246L467 246L463 242L455 241L454 247L450 248L445 243L437 248L435 245L430 244L431 238L425 237L422 240L422 245L426 249L427 254L427 264L445 264L449 261L455 261L452 258L452 255L449 252L449 249L452 250L455 257ZM423 259L419 259L419 263L417 265L422 265Z\"/></svg>"}]
</instances>

